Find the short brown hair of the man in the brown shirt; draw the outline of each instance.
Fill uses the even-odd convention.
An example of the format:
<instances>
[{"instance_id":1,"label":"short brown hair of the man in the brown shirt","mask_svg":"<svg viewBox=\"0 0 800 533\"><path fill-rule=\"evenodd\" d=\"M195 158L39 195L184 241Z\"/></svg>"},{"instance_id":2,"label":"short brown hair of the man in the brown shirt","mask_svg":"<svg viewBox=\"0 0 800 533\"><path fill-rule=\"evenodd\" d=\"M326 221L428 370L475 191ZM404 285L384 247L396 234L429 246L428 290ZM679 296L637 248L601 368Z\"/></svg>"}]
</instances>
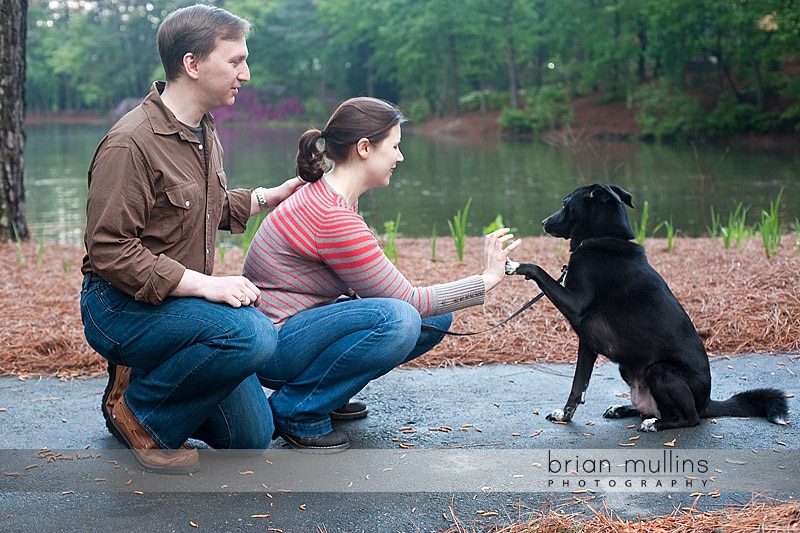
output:
<instances>
[{"instance_id":1,"label":"short brown hair of the man in the brown shirt","mask_svg":"<svg viewBox=\"0 0 800 533\"><path fill-rule=\"evenodd\" d=\"M237 41L247 37L251 28L250 22L219 7L197 4L173 11L158 28L158 54L167 81L183 73L186 54L205 59L218 40Z\"/></svg>"}]
</instances>

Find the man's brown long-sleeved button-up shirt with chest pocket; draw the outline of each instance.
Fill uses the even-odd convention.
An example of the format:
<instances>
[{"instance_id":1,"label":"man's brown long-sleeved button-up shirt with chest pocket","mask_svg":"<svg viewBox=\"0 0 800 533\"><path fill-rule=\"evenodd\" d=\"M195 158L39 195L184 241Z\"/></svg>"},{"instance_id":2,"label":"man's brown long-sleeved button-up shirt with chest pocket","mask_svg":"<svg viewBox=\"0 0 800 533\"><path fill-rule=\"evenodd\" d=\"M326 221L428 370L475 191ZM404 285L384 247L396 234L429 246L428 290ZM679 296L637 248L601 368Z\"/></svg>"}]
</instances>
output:
<instances>
[{"instance_id":1,"label":"man's brown long-sleeved button-up shirt with chest pocket","mask_svg":"<svg viewBox=\"0 0 800 533\"><path fill-rule=\"evenodd\" d=\"M89 168L84 274L95 273L137 300L161 303L185 269L214 270L217 230L242 233L250 191L227 190L214 120L205 142L161 101L144 102L106 134Z\"/></svg>"}]
</instances>

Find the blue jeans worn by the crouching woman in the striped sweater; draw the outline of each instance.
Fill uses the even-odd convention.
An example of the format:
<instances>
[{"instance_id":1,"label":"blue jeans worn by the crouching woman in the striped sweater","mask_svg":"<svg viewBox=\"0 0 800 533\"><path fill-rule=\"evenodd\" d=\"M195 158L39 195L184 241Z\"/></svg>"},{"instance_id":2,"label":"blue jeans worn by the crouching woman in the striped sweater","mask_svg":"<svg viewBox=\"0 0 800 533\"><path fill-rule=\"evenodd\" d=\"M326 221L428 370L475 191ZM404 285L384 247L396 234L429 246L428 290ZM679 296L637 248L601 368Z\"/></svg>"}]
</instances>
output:
<instances>
[{"instance_id":1,"label":"blue jeans worn by the crouching woman in the striped sweater","mask_svg":"<svg viewBox=\"0 0 800 533\"><path fill-rule=\"evenodd\" d=\"M419 357L444 337L421 331L422 323L446 330L452 313L420 319L410 304L363 298L315 307L287 320L278 346L258 371L278 431L315 437L331 431L329 413L367 383Z\"/></svg>"}]
</instances>

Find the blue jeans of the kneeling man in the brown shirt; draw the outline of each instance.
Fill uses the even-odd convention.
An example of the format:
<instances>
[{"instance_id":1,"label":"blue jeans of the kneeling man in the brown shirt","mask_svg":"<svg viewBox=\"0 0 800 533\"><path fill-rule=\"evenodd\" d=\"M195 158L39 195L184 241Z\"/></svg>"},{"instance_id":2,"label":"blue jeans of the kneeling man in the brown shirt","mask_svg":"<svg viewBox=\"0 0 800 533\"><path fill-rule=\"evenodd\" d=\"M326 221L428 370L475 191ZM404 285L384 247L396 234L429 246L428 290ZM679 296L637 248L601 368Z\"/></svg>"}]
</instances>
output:
<instances>
[{"instance_id":1,"label":"blue jeans of the kneeling man in the brown shirt","mask_svg":"<svg viewBox=\"0 0 800 533\"><path fill-rule=\"evenodd\" d=\"M92 348L131 367L125 403L159 446L190 437L222 449L269 446L272 412L255 372L277 331L260 311L200 298L151 305L86 276L81 318Z\"/></svg>"}]
</instances>

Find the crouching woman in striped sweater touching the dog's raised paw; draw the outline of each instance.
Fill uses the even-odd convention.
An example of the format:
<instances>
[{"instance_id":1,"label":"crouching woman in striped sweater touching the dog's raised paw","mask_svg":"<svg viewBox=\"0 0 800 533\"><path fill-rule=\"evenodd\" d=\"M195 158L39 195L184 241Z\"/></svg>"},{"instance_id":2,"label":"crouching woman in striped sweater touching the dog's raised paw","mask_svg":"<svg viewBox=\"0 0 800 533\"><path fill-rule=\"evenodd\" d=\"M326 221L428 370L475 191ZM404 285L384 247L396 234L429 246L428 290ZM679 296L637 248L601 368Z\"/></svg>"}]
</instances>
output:
<instances>
[{"instance_id":1,"label":"crouching woman in striped sweater touching the dog's raised paw","mask_svg":"<svg viewBox=\"0 0 800 533\"><path fill-rule=\"evenodd\" d=\"M482 305L505 276L519 245L508 229L487 236L486 268L458 281L415 287L381 250L358 215L358 198L386 187L403 161L393 105L374 98L344 102L325 129L299 141L298 179L308 182L272 211L244 261L261 290L258 309L278 328L278 346L258 372L270 397L276 434L295 449L333 453L347 436L331 418L366 415L349 398L371 380L422 355L446 330L452 312ZM350 299L333 304L342 294Z\"/></svg>"}]
</instances>

